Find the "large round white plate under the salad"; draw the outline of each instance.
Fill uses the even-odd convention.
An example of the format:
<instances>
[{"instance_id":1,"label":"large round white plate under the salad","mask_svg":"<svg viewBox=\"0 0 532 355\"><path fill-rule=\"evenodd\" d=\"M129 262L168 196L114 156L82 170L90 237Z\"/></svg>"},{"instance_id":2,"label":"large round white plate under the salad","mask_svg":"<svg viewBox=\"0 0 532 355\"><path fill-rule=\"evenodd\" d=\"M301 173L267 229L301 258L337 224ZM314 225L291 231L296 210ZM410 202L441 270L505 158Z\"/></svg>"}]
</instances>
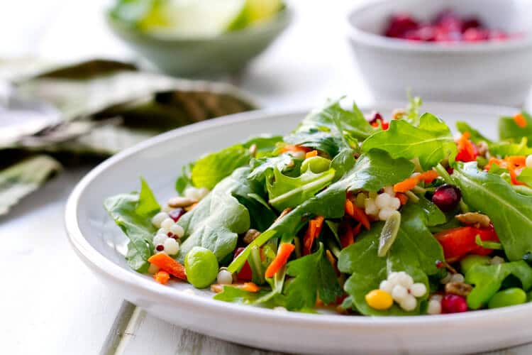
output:
<instances>
[{"instance_id":1,"label":"large round white plate under the salad","mask_svg":"<svg viewBox=\"0 0 532 355\"><path fill-rule=\"evenodd\" d=\"M403 104L379 104L389 116ZM469 121L497 136L497 117L515 109L459 104L425 104L454 126ZM126 236L102 203L118 192L135 190L145 177L164 201L174 193L180 168L202 153L216 151L258 133L287 133L306 111L254 111L201 122L145 141L94 168L67 202L66 226L72 246L101 280L163 320L223 340L290 352L325 354L451 354L486 351L532 341L532 304L458 315L359 317L279 312L211 299L186 283L163 286L128 268Z\"/></svg>"}]
</instances>

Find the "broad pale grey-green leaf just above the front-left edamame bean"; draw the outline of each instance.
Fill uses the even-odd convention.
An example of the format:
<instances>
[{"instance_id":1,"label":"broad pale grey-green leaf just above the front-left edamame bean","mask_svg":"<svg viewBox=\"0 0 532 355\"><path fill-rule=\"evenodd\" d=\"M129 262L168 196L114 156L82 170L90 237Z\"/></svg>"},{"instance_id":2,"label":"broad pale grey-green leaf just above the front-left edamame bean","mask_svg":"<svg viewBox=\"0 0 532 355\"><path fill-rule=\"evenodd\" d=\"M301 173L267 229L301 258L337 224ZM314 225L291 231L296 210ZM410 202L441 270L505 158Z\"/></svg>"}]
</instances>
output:
<instances>
[{"instance_id":1,"label":"broad pale grey-green leaf just above the front-left edamame bean","mask_svg":"<svg viewBox=\"0 0 532 355\"><path fill-rule=\"evenodd\" d=\"M250 229L250 213L233 193L241 191L249 173L249 168L238 168L179 219L177 224L184 229L179 261L194 246L211 250L218 261L235 250L238 234Z\"/></svg>"}]
</instances>

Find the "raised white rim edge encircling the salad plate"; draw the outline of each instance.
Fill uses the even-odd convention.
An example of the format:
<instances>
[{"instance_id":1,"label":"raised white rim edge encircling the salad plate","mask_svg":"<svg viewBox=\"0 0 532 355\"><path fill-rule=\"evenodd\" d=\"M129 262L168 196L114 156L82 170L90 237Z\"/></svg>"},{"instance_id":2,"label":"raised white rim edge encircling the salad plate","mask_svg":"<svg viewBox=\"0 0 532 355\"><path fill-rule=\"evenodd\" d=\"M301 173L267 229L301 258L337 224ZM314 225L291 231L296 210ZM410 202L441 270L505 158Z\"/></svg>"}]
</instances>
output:
<instances>
[{"instance_id":1,"label":"raised white rim edge encircling the salad plate","mask_svg":"<svg viewBox=\"0 0 532 355\"><path fill-rule=\"evenodd\" d=\"M378 104L367 104L360 107L362 111L371 110L379 107L385 109L394 109L403 107L404 102L380 102ZM423 107L431 107L431 109L440 107L448 111L460 111L464 114L467 112L475 114L492 114L499 116L501 112L515 111L514 107L493 106L484 104L455 104L443 102L425 102ZM198 295L189 295L174 288L168 288L165 285L160 285L137 275L131 271L116 265L113 261L106 258L92 247L87 239L84 238L83 233L79 227L77 208L79 198L82 196L84 190L91 184L93 180L98 178L102 173L119 161L135 155L139 151L150 146L157 145L164 141L168 141L179 136L201 131L203 129L212 128L216 126L224 126L227 124L235 124L242 121L253 121L257 119L267 119L272 116L283 115L299 115L305 116L309 113L308 109L260 109L254 111L247 111L239 114L232 114L228 116L221 116L216 119L208 121L201 121L196 124L184 126L166 133L162 133L146 141L136 144L131 148L117 153L104 160L104 162L96 165L95 168L89 171L82 180L80 180L70 193L67 203L65 205L65 229L67 231L67 239L79 258L92 269L92 271L101 274L113 282L121 283L123 286L135 288L142 291L144 294L149 293L151 300L160 302L172 302L172 304L181 305L180 307L200 307L204 311L214 310L215 312L225 313L228 315L238 315L238 317L253 318L256 322L279 322L285 324L290 323L294 326L302 328L318 328L318 327L390 327L390 329L400 329L406 324L409 327L441 327L444 325L455 325L460 322L462 325L477 324L478 322L487 322L489 320L498 320L499 317L511 316L515 313L526 311L532 314L532 303L516 305L511 307L504 307L494 310L479 310L475 312L465 312L451 315L431 315L430 317L423 316L401 316L401 317L367 317L360 315L343 316L343 315L316 315L300 312L276 312L263 307L255 307L249 305L239 305L230 302L223 302L214 300L211 297L199 297ZM140 293L140 292L139 292ZM235 313L236 312L236 313Z\"/></svg>"}]
</instances>

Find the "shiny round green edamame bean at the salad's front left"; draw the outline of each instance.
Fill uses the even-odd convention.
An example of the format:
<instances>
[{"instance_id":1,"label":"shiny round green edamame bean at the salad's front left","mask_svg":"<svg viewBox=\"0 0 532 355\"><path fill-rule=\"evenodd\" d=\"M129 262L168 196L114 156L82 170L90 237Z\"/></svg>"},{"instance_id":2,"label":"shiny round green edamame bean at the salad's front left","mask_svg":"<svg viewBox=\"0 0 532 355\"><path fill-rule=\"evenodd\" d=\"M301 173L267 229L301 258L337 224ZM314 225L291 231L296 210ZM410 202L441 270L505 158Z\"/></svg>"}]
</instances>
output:
<instances>
[{"instance_id":1,"label":"shiny round green edamame bean at the salad's front left","mask_svg":"<svg viewBox=\"0 0 532 355\"><path fill-rule=\"evenodd\" d=\"M194 246L184 259L187 280L195 288L206 288L216 280L218 260L216 255L202 246Z\"/></svg>"}]
</instances>

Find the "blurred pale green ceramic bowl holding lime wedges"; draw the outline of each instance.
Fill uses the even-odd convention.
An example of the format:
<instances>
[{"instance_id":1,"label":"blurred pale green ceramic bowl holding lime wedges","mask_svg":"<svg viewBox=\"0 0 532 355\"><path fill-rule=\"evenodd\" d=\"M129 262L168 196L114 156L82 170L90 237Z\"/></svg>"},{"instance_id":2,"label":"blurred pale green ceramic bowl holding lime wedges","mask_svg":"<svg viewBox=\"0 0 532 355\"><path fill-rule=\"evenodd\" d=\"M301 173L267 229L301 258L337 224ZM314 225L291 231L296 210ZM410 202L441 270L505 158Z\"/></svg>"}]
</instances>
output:
<instances>
[{"instance_id":1,"label":"blurred pale green ceramic bowl holding lime wedges","mask_svg":"<svg viewBox=\"0 0 532 355\"><path fill-rule=\"evenodd\" d=\"M145 33L109 14L106 18L119 38L162 72L176 76L208 76L236 72L245 67L287 28L292 11L285 7L265 23L204 38Z\"/></svg>"}]
</instances>

